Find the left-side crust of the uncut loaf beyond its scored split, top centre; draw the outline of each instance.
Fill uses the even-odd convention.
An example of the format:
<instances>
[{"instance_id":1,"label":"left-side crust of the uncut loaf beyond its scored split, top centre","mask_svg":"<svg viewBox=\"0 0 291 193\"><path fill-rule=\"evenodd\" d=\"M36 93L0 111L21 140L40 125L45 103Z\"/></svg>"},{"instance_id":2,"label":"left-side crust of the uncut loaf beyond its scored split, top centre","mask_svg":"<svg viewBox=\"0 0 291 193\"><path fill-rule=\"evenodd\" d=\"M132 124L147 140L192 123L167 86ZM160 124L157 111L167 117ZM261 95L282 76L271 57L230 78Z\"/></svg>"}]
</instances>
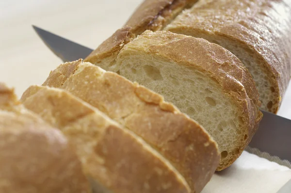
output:
<instances>
[{"instance_id":1,"label":"left-side crust of the uncut loaf beyond its scored split, top centre","mask_svg":"<svg viewBox=\"0 0 291 193\"><path fill-rule=\"evenodd\" d=\"M197 0L144 0L130 16L125 26L130 26L136 35L146 30L161 30L184 8L190 7Z\"/></svg>"}]
</instances>

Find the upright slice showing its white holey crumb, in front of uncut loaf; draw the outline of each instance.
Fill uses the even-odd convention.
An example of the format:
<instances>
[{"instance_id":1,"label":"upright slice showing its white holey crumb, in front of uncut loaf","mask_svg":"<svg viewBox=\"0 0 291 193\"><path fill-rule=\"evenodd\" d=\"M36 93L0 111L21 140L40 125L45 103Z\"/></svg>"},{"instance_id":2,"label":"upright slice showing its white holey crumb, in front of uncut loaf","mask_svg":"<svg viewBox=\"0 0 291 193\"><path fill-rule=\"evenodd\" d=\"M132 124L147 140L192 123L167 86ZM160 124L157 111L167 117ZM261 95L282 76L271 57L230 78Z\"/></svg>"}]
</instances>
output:
<instances>
[{"instance_id":1,"label":"upright slice showing its white holey crumb, in front of uncut loaf","mask_svg":"<svg viewBox=\"0 0 291 193\"><path fill-rule=\"evenodd\" d=\"M219 145L217 170L239 157L262 117L258 91L241 61L203 39L146 31L121 49L114 64L101 59L97 65L162 94L198 121Z\"/></svg>"}]
</instances>

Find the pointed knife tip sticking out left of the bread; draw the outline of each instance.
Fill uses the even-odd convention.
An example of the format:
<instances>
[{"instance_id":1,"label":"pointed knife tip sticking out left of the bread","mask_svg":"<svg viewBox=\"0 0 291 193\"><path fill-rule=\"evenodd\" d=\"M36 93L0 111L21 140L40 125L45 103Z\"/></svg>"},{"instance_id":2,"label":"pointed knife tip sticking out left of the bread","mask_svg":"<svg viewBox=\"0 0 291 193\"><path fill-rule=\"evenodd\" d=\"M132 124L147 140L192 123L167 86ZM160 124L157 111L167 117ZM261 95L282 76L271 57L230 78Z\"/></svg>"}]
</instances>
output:
<instances>
[{"instance_id":1,"label":"pointed knife tip sticking out left of the bread","mask_svg":"<svg viewBox=\"0 0 291 193\"><path fill-rule=\"evenodd\" d=\"M64 62L84 59L93 51L93 49L81 46L36 26L32 27L49 49Z\"/></svg>"}]
</instances>

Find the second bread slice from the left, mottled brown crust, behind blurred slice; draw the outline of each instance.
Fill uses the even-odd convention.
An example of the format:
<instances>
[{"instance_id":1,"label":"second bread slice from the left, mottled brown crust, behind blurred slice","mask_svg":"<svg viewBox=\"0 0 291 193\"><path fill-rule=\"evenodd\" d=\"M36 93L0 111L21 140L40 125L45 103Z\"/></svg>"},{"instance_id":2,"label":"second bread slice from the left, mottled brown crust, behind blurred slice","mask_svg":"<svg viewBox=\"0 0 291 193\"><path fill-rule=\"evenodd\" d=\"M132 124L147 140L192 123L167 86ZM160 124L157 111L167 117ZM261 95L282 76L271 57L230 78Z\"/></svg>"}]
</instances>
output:
<instances>
[{"instance_id":1,"label":"second bread slice from the left, mottled brown crust, behind blurred slice","mask_svg":"<svg viewBox=\"0 0 291 193\"><path fill-rule=\"evenodd\" d=\"M76 146L96 193L190 192L185 179L159 153L77 97L31 86L21 100Z\"/></svg>"}]
</instances>

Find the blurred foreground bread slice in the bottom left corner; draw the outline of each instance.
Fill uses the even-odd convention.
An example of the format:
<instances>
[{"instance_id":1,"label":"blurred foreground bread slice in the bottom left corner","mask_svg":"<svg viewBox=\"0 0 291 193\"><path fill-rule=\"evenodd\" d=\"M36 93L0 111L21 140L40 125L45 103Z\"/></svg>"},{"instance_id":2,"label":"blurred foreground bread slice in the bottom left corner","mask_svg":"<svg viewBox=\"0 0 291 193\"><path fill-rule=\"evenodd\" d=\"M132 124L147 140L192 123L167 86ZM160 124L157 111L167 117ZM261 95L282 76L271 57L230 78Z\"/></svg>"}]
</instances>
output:
<instances>
[{"instance_id":1,"label":"blurred foreground bread slice in the bottom left corner","mask_svg":"<svg viewBox=\"0 0 291 193\"><path fill-rule=\"evenodd\" d=\"M0 192L89 193L67 139L27 111L0 83Z\"/></svg>"}]
</instances>

